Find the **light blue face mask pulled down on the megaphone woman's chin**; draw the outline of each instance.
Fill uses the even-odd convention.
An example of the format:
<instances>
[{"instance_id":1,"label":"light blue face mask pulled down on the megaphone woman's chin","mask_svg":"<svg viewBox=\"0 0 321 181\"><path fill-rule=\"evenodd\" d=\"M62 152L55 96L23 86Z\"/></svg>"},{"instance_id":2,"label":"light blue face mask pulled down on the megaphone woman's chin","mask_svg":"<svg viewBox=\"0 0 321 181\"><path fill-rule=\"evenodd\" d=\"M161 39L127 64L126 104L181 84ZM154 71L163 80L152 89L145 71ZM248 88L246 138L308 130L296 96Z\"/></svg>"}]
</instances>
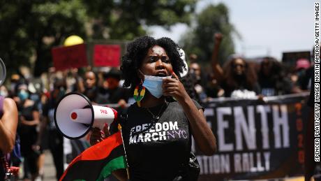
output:
<instances>
[{"instance_id":1,"label":"light blue face mask pulled down on the megaphone woman's chin","mask_svg":"<svg viewBox=\"0 0 321 181\"><path fill-rule=\"evenodd\" d=\"M167 77L156 77L151 75L144 75L144 83L142 86L144 86L150 93L156 98L160 98L163 95L163 79L164 78L170 78L170 76Z\"/></svg>"}]
</instances>

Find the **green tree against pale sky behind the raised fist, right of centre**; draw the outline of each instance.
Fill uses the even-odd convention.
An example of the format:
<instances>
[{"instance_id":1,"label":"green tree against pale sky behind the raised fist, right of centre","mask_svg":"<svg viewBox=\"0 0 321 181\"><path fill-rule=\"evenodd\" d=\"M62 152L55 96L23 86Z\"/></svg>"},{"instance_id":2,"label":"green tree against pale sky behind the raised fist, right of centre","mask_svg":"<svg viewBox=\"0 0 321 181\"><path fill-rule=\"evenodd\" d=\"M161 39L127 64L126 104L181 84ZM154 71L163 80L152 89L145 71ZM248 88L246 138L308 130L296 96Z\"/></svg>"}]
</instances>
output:
<instances>
[{"instance_id":1,"label":"green tree against pale sky behind the raised fist, right of centre","mask_svg":"<svg viewBox=\"0 0 321 181\"><path fill-rule=\"evenodd\" d=\"M210 63L214 48L214 34L223 34L218 53L221 64L234 53L232 34L236 33L230 24L227 7L223 3L210 5L195 17L195 27L186 32L179 41L186 53L195 53L201 63Z\"/></svg>"}]
</instances>

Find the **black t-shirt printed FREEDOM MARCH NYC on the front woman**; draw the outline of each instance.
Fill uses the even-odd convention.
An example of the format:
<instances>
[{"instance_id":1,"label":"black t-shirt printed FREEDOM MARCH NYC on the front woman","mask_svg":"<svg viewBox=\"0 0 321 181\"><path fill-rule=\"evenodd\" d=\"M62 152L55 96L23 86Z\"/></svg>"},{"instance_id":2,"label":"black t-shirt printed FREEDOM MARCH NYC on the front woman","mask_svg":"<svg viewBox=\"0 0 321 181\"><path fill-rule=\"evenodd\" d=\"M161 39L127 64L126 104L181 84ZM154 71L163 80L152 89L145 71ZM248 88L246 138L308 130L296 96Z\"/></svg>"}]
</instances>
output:
<instances>
[{"instance_id":1,"label":"black t-shirt printed FREEDOM MARCH NYC on the front woman","mask_svg":"<svg viewBox=\"0 0 321 181\"><path fill-rule=\"evenodd\" d=\"M194 101L197 109L202 108ZM162 108L163 107L163 108ZM191 152L191 131L183 108L177 101L149 108L133 104L123 126L130 180L174 180L186 169ZM142 133L139 133L142 130Z\"/></svg>"}]
</instances>

